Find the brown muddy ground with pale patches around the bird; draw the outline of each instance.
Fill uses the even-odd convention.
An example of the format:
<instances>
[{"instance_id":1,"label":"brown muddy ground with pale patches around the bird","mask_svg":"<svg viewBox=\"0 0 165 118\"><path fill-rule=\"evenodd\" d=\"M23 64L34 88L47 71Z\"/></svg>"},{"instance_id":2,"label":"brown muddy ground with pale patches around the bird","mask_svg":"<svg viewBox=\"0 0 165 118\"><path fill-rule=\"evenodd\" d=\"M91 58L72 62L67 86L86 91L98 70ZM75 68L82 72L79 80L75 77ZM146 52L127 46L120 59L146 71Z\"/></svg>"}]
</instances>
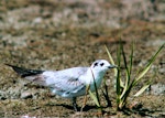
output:
<instances>
[{"instance_id":1,"label":"brown muddy ground with pale patches around the bird","mask_svg":"<svg viewBox=\"0 0 165 118\"><path fill-rule=\"evenodd\" d=\"M117 60L122 37L129 57L135 42L133 75L165 42L163 0L1 0L0 1L0 117L99 117L88 96L82 112L75 112L68 99L52 96L45 87L19 77L4 63L35 69L89 66L108 58L105 45ZM151 89L132 95L128 108L116 110L116 79L106 75L112 107L101 96L103 117L165 117L165 50L142 81L152 79ZM133 93L142 84L139 84ZM82 106L82 98L78 105Z\"/></svg>"}]
</instances>

